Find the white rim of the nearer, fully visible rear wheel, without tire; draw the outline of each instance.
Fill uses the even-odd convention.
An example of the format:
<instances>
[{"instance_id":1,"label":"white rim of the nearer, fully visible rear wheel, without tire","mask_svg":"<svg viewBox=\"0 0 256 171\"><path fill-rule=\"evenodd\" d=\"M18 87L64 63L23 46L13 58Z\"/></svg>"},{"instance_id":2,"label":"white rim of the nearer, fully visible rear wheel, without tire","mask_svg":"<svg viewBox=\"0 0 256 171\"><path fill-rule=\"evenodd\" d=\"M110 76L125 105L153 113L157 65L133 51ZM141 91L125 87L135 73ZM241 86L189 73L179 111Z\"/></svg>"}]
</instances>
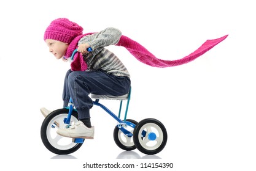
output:
<instances>
[{"instance_id":1,"label":"white rim of the nearer, fully visible rear wheel, without tire","mask_svg":"<svg viewBox=\"0 0 256 171\"><path fill-rule=\"evenodd\" d=\"M146 131L145 137L142 137L142 131ZM149 133L155 133L157 138L155 140L149 140ZM155 150L160 147L163 142L163 131L160 126L155 123L146 123L139 129L138 134L139 144L147 150Z\"/></svg>"}]
</instances>

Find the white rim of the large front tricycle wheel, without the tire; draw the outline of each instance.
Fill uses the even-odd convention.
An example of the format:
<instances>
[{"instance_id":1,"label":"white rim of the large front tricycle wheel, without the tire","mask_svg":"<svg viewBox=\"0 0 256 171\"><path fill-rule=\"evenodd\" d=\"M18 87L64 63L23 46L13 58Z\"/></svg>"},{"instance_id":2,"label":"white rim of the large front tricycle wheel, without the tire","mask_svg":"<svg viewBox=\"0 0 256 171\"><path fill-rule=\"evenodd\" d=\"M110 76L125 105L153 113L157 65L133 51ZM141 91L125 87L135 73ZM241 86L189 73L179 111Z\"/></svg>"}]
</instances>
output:
<instances>
[{"instance_id":1,"label":"white rim of the large front tricycle wheel, without the tire","mask_svg":"<svg viewBox=\"0 0 256 171\"><path fill-rule=\"evenodd\" d=\"M67 114L56 115L56 117L52 118L47 125L46 135L48 142L50 142L50 144L58 150L69 150L77 145L77 143L72 142L72 138L63 137L56 133L58 126L56 126L54 122L59 123L60 128L64 128L66 125L64 124L63 120L67 116ZM71 116L71 125L73 125L75 122L78 122L77 118ZM52 125L54 125L55 128L52 128Z\"/></svg>"}]
</instances>

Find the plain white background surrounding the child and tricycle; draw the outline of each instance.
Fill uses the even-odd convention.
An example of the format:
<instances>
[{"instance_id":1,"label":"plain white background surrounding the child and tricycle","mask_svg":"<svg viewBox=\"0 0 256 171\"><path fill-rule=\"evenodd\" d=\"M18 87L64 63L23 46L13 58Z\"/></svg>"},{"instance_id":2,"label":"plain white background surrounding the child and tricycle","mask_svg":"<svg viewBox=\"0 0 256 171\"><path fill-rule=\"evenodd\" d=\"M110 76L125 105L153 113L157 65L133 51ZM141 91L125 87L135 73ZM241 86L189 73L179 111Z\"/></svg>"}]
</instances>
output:
<instances>
[{"instance_id":1,"label":"plain white background surrounding the child and tricycle","mask_svg":"<svg viewBox=\"0 0 256 171\"><path fill-rule=\"evenodd\" d=\"M253 2L1 1L1 166L84 170L85 162L173 162L172 170L255 170ZM124 152L112 136L115 121L95 106L95 139L71 155L56 156L42 144L39 109L62 107L69 64L48 53L43 40L50 21L60 17L80 24L84 33L117 27L167 60L187 56L207 39L228 37L193 62L172 68L153 68L124 48L109 47L131 74L128 118L163 122L166 147L155 156ZM104 103L118 109L114 101Z\"/></svg>"}]
</instances>

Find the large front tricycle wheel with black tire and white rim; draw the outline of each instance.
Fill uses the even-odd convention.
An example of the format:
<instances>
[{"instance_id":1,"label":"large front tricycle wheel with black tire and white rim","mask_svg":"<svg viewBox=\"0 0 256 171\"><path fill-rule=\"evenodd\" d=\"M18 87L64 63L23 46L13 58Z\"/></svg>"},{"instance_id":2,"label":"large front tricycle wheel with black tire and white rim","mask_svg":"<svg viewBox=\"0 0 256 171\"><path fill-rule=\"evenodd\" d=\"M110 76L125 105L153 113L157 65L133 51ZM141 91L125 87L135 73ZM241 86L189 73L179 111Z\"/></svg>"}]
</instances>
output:
<instances>
[{"instance_id":1,"label":"large front tricycle wheel with black tire and white rim","mask_svg":"<svg viewBox=\"0 0 256 171\"><path fill-rule=\"evenodd\" d=\"M52 153L57 155L68 155L77 151L82 144L77 144L72 142L72 138L62 137L56 134L58 126L63 126L62 122L65 117L68 116L69 109L57 109L51 112L47 117L45 117L44 122L41 126L41 139L44 146ZM76 111L72 111L71 122L77 122L78 114ZM64 122L63 122L64 123ZM53 135L54 134L54 135ZM55 135L56 134L56 135ZM53 138L55 136L58 138ZM68 145L62 145L54 142L55 140L66 140Z\"/></svg>"}]
</instances>

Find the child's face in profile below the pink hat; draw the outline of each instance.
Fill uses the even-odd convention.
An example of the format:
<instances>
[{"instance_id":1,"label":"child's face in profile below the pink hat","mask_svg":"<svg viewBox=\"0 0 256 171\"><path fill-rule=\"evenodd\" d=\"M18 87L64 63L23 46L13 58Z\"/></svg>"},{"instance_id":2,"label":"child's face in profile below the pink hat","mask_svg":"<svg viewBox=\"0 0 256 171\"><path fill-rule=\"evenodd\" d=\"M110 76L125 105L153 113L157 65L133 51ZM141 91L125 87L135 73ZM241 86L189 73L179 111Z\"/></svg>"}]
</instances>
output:
<instances>
[{"instance_id":1,"label":"child's face in profile below the pink hat","mask_svg":"<svg viewBox=\"0 0 256 171\"><path fill-rule=\"evenodd\" d=\"M52 53L56 59L61 59L68 49L68 43L63 43L58 40L46 39L45 43L49 47L50 53Z\"/></svg>"}]
</instances>

